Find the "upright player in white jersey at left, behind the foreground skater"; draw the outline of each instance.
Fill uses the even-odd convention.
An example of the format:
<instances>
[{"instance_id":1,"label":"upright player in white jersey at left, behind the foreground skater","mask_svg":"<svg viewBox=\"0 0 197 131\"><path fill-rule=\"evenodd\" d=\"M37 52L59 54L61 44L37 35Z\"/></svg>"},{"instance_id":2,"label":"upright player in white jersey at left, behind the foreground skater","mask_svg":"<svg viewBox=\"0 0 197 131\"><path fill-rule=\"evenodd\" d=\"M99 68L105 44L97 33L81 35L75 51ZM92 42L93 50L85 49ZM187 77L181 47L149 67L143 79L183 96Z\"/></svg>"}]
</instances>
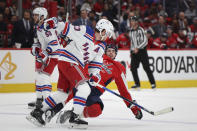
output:
<instances>
[{"instance_id":1,"label":"upright player in white jersey at left, behind the foreground skater","mask_svg":"<svg viewBox=\"0 0 197 131\"><path fill-rule=\"evenodd\" d=\"M39 7L33 10L35 22L35 38L31 53L36 57L36 103L29 103L28 106L42 106L42 101L52 90L50 75L58 63L57 52L51 52L51 48L60 48L58 41L58 29L46 29L48 12L45 8ZM54 19L55 20L55 19ZM56 23L56 22L55 22ZM54 23L54 24L55 24ZM59 25L61 28L63 25ZM62 28L63 28L62 27Z\"/></svg>"}]
</instances>

